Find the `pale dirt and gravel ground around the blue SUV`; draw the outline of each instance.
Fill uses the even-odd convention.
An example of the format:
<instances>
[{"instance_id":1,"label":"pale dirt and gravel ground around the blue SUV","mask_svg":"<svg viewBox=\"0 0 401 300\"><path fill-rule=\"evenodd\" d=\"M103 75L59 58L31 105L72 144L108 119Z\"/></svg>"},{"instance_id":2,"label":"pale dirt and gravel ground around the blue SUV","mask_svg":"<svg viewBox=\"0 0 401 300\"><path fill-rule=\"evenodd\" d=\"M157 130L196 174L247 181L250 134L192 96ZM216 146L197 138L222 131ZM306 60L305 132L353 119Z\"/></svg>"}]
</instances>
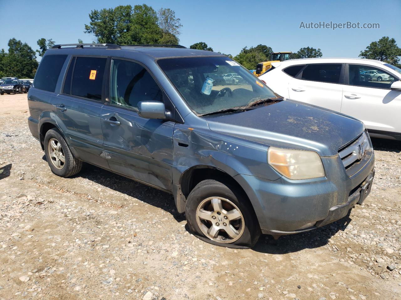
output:
<instances>
[{"instance_id":1,"label":"pale dirt and gravel ground around the blue SUV","mask_svg":"<svg viewBox=\"0 0 401 300\"><path fill-rule=\"evenodd\" d=\"M400 299L401 143L373 140L371 195L253 249L198 240L171 195L85 165L50 172L26 94L0 96L0 299Z\"/></svg>"}]
</instances>

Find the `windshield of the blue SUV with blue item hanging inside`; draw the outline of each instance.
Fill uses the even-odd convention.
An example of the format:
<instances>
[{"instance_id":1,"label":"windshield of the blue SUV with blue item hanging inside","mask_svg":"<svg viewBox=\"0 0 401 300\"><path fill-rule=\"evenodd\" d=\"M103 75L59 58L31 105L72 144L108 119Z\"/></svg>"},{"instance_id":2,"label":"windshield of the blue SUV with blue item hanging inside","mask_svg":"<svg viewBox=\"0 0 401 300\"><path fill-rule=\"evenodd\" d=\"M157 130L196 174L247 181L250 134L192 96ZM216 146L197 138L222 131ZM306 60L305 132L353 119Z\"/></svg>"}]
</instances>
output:
<instances>
[{"instance_id":1,"label":"windshield of the blue SUV with blue item hanging inside","mask_svg":"<svg viewBox=\"0 0 401 300\"><path fill-rule=\"evenodd\" d=\"M158 64L198 115L243 111L277 98L251 72L228 57L166 58Z\"/></svg>"}]
</instances>

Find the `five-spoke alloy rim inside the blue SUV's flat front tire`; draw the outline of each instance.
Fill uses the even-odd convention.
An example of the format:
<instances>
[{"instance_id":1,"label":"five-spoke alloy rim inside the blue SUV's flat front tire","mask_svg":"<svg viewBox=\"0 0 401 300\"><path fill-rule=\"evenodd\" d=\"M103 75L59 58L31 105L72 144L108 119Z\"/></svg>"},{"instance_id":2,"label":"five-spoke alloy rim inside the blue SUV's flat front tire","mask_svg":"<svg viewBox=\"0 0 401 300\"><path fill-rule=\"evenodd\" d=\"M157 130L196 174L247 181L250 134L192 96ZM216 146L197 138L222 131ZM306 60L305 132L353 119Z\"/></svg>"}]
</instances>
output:
<instances>
[{"instance_id":1,"label":"five-spoke alloy rim inside the blue SUV's flat front tire","mask_svg":"<svg viewBox=\"0 0 401 300\"><path fill-rule=\"evenodd\" d=\"M196 210L196 221L202 233L220 243L233 243L244 231L244 219L239 208L222 197L203 200Z\"/></svg>"}]
</instances>

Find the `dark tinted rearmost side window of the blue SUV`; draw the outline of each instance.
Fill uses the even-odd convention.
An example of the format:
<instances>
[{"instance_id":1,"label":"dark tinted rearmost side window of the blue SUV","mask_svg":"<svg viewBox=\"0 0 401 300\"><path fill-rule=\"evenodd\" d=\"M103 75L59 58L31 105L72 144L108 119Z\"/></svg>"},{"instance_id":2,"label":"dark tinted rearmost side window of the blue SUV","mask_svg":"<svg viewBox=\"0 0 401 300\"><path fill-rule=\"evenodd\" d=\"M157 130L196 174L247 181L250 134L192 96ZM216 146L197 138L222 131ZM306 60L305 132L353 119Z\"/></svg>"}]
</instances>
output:
<instances>
[{"instance_id":1,"label":"dark tinted rearmost side window of the blue SUV","mask_svg":"<svg viewBox=\"0 0 401 300\"><path fill-rule=\"evenodd\" d=\"M47 55L39 64L36 72L34 87L39 90L55 92L61 68L63 68L67 55Z\"/></svg>"}]
</instances>

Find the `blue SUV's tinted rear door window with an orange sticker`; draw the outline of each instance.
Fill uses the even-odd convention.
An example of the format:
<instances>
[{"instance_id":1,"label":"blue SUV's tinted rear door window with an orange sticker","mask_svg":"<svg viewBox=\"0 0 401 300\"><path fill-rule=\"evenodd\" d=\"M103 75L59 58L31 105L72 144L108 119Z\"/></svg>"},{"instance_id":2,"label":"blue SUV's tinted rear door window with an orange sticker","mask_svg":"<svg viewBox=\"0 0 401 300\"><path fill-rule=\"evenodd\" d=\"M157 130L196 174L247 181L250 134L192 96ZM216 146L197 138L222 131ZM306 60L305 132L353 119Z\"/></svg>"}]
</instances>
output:
<instances>
[{"instance_id":1,"label":"blue SUV's tinted rear door window with an orange sticker","mask_svg":"<svg viewBox=\"0 0 401 300\"><path fill-rule=\"evenodd\" d=\"M106 60L107 58L100 57L77 57L72 76L71 95L101 100Z\"/></svg>"}]
</instances>

